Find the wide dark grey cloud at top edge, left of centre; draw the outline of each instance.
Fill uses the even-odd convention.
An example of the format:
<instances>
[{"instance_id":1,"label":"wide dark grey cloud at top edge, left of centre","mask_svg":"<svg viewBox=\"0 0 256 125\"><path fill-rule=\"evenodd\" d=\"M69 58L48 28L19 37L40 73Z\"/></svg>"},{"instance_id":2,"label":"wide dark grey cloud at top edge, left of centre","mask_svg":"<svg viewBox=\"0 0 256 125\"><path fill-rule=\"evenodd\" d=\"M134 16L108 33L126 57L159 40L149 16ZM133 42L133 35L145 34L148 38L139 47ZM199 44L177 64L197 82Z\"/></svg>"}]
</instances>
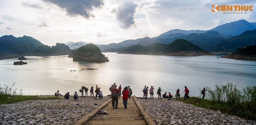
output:
<instances>
[{"instance_id":1,"label":"wide dark grey cloud at top edge, left of centre","mask_svg":"<svg viewBox=\"0 0 256 125\"><path fill-rule=\"evenodd\" d=\"M68 16L94 17L92 11L104 5L103 0L42 0L58 5Z\"/></svg>"}]
</instances>

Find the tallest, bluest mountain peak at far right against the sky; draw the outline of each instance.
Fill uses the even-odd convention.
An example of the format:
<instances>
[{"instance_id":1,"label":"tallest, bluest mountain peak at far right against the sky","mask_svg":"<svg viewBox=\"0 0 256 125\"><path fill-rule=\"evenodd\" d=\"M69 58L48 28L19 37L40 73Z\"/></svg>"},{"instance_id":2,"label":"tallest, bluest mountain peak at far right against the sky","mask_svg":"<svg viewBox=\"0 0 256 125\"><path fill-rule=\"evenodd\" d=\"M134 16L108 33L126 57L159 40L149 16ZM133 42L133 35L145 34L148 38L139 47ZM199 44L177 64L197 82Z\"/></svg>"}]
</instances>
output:
<instances>
[{"instance_id":1,"label":"tallest, bluest mountain peak at far right against the sky","mask_svg":"<svg viewBox=\"0 0 256 125\"><path fill-rule=\"evenodd\" d=\"M246 20L238 20L230 23L225 23L223 25L219 25L213 29L214 31L218 31L223 35L231 35L231 36L237 36L241 33L245 32L246 30L253 30L256 29L256 27L253 25L254 23L250 23Z\"/></svg>"}]
</instances>

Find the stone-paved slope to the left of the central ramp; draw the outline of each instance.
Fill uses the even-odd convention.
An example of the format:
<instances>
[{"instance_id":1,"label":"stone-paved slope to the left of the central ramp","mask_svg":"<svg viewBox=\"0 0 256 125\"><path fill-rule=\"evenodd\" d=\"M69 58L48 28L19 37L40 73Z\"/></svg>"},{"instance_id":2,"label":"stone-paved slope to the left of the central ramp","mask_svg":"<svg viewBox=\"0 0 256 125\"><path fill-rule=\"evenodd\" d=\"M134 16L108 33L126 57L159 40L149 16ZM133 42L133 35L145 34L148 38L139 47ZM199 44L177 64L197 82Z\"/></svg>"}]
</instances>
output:
<instances>
[{"instance_id":1,"label":"stone-paved slope to the left of the central ramp","mask_svg":"<svg viewBox=\"0 0 256 125\"><path fill-rule=\"evenodd\" d=\"M109 99L103 97L102 100L95 100L88 96L79 97L77 102L72 98L70 96L70 100L34 100L0 105L0 125L70 125Z\"/></svg>"}]
</instances>

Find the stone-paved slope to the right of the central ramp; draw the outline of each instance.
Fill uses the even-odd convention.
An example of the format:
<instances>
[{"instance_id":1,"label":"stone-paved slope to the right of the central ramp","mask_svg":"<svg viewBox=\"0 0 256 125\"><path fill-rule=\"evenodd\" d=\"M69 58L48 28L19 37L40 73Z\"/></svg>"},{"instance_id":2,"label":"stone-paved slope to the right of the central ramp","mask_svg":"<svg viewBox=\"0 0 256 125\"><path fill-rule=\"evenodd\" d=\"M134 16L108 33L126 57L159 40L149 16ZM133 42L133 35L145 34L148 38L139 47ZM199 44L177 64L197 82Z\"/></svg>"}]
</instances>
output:
<instances>
[{"instance_id":1,"label":"stone-paved slope to the right of the central ramp","mask_svg":"<svg viewBox=\"0 0 256 125\"><path fill-rule=\"evenodd\" d=\"M176 100L158 98L138 101L157 125L256 125L255 121L203 109Z\"/></svg>"}]
</instances>

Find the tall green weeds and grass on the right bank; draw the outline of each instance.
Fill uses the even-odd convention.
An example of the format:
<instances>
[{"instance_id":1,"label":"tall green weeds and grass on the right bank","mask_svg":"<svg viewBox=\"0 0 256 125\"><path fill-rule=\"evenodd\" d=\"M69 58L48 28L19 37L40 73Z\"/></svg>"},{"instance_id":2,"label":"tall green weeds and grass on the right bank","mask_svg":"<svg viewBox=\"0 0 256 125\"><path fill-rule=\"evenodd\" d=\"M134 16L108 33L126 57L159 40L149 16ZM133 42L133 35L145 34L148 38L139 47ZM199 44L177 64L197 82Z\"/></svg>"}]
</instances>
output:
<instances>
[{"instance_id":1,"label":"tall green weeds and grass on the right bank","mask_svg":"<svg viewBox=\"0 0 256 125\"><path fill-rule=\"evenodd\" d=\"M190 97L185 103L248 120L256 120L255 95L256 86L237 89L235 85L228 83L227 85L216 85L214 90L208 88L205 94L207 99L205 100L201 98L202 96Z\"/></svg>"}]
</instances>

